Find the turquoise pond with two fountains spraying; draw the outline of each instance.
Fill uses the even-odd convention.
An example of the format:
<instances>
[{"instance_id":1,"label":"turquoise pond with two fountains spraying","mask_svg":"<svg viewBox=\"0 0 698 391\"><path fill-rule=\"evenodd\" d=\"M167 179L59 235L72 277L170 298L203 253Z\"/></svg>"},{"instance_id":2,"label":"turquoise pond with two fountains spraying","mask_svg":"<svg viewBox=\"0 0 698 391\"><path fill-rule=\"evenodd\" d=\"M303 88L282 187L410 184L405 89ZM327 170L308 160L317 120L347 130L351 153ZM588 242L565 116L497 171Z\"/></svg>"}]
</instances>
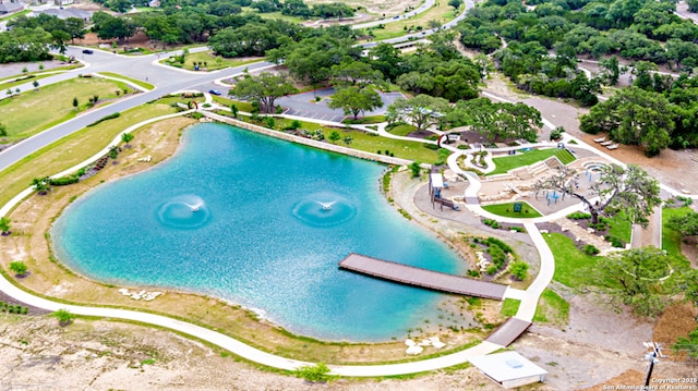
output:
<instances>
[{"instance_id":1,"label":"turquoise pond with two fountains spraying","mask_svg":"<svg viewBox=\"0 0 698 391\"><path fill-rule=\"evenodd\" d=\"M344 257L453 273L465 262L387 204L384 170L198 124L171 159L77 198L51 237L61 261L99 281L209 294L320 339L385 341L437 321L446 296L339 270Z\"/></svg>"}]
</instances>

